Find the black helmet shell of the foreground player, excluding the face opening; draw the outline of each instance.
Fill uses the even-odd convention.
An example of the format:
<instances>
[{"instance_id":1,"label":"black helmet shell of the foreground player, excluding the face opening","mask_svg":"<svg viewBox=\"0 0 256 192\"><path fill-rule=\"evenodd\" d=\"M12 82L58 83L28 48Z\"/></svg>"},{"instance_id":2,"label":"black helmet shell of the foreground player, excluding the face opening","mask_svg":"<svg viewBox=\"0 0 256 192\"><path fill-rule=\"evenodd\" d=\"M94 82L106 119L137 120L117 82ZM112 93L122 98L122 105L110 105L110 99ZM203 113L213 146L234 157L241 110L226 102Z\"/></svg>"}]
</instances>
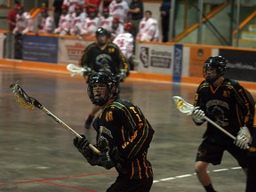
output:
<instances>
[{"instance_id":1,"label":"black helmet shell of the foreground player, excluding the face opening","mask_svg":"<svg viewBox=\"0 0 256 192\"><path fill-rule=\"evenodd\" d=\"M95 98L93 87L95 84L107 84L105 97ZM94 72L90 76L87 93L94 105L103 106L108 100L119 98L119 80L110 71Z\"/></svg>"}]
</instances>

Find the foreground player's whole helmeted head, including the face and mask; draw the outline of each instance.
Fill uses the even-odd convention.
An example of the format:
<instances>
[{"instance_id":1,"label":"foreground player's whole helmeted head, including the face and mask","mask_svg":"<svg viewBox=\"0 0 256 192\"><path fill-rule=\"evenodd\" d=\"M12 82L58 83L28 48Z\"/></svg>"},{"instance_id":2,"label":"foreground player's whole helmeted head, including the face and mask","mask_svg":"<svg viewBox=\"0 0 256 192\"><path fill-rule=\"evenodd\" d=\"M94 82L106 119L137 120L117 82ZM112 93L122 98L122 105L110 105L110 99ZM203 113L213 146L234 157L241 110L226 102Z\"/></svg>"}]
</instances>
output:
<instances>
[{"instance_id":1,"label":"foreground player's whole helmeted head, including the face and mask","mask_svg":"<svg viewBox=\"0 0 256 192\"><path fill-rule=\"evenodd\" d=\"M94 105L103 106L108 100L118 98L119 85L111 72L98 72L90 76L87 93Z\"/></svg>"}]
</instances>

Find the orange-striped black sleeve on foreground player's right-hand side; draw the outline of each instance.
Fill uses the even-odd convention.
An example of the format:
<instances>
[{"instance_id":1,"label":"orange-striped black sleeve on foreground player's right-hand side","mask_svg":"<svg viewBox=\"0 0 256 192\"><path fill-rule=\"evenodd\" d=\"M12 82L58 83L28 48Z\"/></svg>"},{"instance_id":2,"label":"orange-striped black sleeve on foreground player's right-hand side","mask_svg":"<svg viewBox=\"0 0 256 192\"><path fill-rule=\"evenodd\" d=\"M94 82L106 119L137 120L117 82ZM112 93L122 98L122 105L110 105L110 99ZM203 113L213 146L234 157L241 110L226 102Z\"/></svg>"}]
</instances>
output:
<instances>
[{"instance_id":1,"label":"orange-striped black sleeve on foreground player's right-hand side","mask_svg":"<svg viewBox=\"0 0 256 192\"><path fill-rule=\"evenodd\" d=\"M130 102L114 102L113 116L118 123L116 141L119 142L119 152L127 159L141 155L147 151L154 130L148 123L140 108Z\"/></svg>"}]
</instances>

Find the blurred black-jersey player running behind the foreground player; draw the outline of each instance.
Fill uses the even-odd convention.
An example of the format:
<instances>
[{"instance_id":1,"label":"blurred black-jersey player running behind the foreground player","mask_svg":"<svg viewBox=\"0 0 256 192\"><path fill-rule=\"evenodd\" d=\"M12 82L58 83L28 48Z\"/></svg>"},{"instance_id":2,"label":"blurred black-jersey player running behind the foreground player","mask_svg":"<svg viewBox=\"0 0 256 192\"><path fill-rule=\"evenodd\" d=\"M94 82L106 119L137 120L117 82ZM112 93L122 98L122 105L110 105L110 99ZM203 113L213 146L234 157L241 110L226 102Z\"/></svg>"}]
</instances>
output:
<instances>
[{"instance_id":1,"label":"blurred black-jersey player running behind the foreground player","mask_svg":"<svg viewBox=\"0 0 256 192\"><path fill-rule=\"evenodd\" d=\"M98 28L96 33L96 42L86 46L83 56L79 61L79 65L86 69L84 78L88 79L91 72L111 71L113 74L120 76L120 81L124 81L128 76L128 64L116 44L108 41L108 30ZM100 110L98 106L94 106L85 120L85 129L90 129L92 121L96 113Z\"/></svg>"}]
</instances>

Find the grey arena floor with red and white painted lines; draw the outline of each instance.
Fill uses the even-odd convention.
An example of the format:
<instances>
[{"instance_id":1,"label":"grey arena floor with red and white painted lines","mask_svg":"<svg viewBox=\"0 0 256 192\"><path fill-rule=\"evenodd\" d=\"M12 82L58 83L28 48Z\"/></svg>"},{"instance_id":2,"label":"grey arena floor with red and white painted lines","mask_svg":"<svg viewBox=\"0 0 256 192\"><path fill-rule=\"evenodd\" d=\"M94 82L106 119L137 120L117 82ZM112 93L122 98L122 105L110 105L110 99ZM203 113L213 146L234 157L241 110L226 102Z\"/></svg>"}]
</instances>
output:
<instances>
[{"instance_id":1,"label":"grey arena floor with red and white painted lines","mask_svg":"<svg viewBox=\"0 0 256 192\"><path fill-rule=\"evenodd\" d=\"M72 144L73 135L38 108L20 108L9 89L19 80L30 97L79 133L94 141L94 130L84 130L92 107L82 76L71 77L33 70L1 68L0 191L106 191L116 171L92 167ZM148 151L154 169L152 192L200 192L194 172L196 149L204 126L181 114L172 101L180 95L193 102L196 86L127 79L121 97L140 106L156 133ZM252 92L254 98L256 92ZM225 154L221 165L209 167L213 186L221 192L243 192L245 176Z\"/></svg>"}]
</instances>

